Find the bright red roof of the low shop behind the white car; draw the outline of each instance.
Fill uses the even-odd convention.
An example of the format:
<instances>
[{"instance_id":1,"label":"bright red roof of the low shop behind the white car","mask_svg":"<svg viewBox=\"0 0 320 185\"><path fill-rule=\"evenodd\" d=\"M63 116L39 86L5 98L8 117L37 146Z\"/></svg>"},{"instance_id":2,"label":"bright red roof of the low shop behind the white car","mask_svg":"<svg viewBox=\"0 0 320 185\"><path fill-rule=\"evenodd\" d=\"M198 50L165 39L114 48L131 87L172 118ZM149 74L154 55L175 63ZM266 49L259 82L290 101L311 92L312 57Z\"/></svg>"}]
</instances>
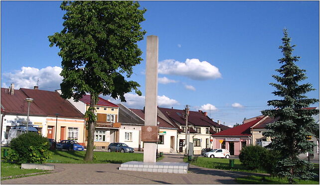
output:
<instances>
[{"instance_id":1,"label":"bright red roof of the low shop behind the white car","mask_svg":"<svg viewBox=\"0 0 320 185\"><path fill-rule=\"evenodd\" d=\"M259 117L256 120L230 128L228 130L218 132L216 134L212 134L212 136L250 136L251 135L250 127L258 123L261 119L263 118Z\"/></svg>"}]
</instances>

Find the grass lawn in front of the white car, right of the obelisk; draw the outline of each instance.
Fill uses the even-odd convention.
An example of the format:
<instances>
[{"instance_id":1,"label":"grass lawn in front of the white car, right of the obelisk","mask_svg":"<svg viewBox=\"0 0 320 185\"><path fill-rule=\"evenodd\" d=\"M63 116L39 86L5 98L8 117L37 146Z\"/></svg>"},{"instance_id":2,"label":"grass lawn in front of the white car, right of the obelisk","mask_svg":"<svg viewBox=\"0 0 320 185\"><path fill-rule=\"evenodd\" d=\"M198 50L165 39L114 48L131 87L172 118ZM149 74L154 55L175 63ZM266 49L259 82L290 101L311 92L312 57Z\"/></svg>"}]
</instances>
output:
<instances>
[{"instance_id":1,"label":"grass lawn in front of the white car, right of the obelisk","mask_svg":"<svg viewBox=\"0 0 320 185\"><path fill-rule=\"evenodd\" d=\"M188 159L183 159L184 162L187 162ZM241 171L241 172L254 172L254 173L262 173L266 174L267 172L263 169L258 170L248 170L246 167L242 165L239 159L234 159L234 168L229 167L229 159L224 158L207 158L207 157L198 157L196 162L191 162L190 164L204 167L204 168L212 168L212 169L222 169L222 170L233 170L233 171Z\"/></svg>"}]
</instances>

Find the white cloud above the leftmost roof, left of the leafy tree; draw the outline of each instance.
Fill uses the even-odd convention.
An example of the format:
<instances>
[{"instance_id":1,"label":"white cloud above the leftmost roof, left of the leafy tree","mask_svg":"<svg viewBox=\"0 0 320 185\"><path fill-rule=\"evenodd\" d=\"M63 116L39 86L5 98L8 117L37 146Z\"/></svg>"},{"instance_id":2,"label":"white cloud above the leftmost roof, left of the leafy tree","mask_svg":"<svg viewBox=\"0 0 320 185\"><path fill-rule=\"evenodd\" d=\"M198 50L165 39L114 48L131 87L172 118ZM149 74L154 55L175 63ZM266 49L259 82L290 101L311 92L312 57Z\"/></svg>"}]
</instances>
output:
<instances>
[{"instance_id":1,"label":"white cloud above the leftmost roof, left of the leafy tree","mask_svg":"<svg viewBox=\"0 0 320 185\"><path fill-rule=\"evenodd\" d=\"M14 84L15 89L28 88L33 89L39 80L39 89L57 90L60 89L62 77L60 76L62 69L60 67L51 67L37 69L31 67L22 67L20 71L14 73L4 73L3 78L8 83L2 83L3 87L8 87L9 83Z\"/></svg>"}]
</instances>

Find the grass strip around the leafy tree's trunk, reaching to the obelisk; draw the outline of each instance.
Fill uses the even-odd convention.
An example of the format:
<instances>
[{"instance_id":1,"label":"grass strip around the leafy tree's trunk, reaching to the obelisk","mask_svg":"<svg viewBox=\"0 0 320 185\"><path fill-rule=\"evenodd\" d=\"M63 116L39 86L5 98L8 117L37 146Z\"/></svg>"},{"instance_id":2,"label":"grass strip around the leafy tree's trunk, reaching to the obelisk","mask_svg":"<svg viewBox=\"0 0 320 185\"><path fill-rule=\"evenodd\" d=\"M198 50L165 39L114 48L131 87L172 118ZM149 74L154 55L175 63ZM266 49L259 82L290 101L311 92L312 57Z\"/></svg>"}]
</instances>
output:
<instances>
[{"instance_id":1,"label":"grass strip around the leafy tree's trunk, reaching to the obelisk","mask_svg":"<svg viewBox=\"0 0 320 185\"><path fill-rule=\"evenodd\" d=\"M83 161L86 151L52 151L51 158L47 163L86 163ZM143 161L143 153L120 153L94 151L96 160L90 163L126 163L129 161Z\"/></svg>"}]
</instances>

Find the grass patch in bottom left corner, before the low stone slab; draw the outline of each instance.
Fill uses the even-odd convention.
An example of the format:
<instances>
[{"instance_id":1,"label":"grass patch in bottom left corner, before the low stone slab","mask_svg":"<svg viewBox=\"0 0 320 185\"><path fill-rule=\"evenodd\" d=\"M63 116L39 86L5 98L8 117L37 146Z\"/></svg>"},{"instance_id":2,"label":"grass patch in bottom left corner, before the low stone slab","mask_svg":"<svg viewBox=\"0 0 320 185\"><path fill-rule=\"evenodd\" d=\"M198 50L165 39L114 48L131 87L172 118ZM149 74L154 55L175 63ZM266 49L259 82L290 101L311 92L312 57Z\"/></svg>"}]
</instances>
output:
<instances>
[{"instance_id":1,"label":"grass patch in bottom left corner, before the low stone slab","mask_svg":"<svg viewBox=\"0 0 320 185\"><path fill-rule=\"evenodd\" d=\"M20 176L25 174L39 173L39 172L46 172L46 171L36 170L36 169L21 169L21 165L1 161L1 179L3 177Z\"/></svg>"}]
</instances>

